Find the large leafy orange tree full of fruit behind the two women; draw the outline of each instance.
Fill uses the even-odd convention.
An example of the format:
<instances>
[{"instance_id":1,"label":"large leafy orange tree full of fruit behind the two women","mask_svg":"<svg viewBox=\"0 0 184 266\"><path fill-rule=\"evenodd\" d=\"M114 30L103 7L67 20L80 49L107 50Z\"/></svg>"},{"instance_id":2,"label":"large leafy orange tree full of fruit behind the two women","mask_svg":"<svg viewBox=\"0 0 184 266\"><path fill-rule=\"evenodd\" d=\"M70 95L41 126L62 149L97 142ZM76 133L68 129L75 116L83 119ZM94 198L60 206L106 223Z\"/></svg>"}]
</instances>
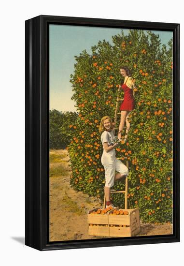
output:
<instances>
[{"instance_id":1,"label":"large leafy orange tree full of fruit behind the two women","mask_svg":"<svg viewBox=\"0 0 184 266\"><path fill-rule=\"evenodd\" d=\"M105 173L100 162L100 119L114 117L117 89L123 82L122 65L135 79L136 108L130 113L128 141L116 148L116 156L129 160L128 208L140 208L143 222L172 222L172 40L160 43L151 31L129 30L105 40L75 57L71 74L78 118L69 150L71 185L88 195L104 197ZM123 96L123 92L122 96ZM116 124L118 126L118 123ZM70 129L69 129L70 130ZM114 189L123 189L125 180ZM124 207L124 195L113 194Z\"/></svg>"}]
</instances>

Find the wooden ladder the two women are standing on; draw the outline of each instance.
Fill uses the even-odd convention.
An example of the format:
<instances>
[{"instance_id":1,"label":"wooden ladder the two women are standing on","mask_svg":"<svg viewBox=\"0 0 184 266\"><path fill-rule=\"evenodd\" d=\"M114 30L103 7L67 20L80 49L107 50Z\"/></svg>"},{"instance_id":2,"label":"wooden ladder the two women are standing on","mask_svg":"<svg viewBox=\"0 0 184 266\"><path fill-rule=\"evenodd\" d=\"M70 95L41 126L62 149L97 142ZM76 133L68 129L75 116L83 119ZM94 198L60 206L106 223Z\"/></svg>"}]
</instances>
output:
<instances>
[{"instance_id":1,"label":"wooden ladder the two women are standing on","mask_svg":"<svg viewBox=\"0 0 184 266\"><path fill-rule=\"evenodd\" d=\"M119 98L120 90L121 90L121 85L119 85L118 93L117 93L117 101L116 101L115 114L114 114L114 123L117 122L117 115L121 115L121 112L118 112L119 102L123 101L123 99ZM127 126L124 126L124 127L126 128ZM115 130L116 129L119 129L119 127L115 127L114 128L114 135L115 135ZM121 157L118 157L117 159L121 159ZM124 159L127 159L127 157L124 157ZM129 162L128 162L128 160L127 160L126 163L127 163L127 168L128 168L128 171L129 171ZM128 204L127 204L128 178L127 177L125 178L125 191L110 190L110 192L111 193L125 193L125 209L127 209L127 207L128 207ZM103 208L105 209L105 207L106 207L106 198L105 198L105 195L104 195Z\"/></svg>"}]
</instances>

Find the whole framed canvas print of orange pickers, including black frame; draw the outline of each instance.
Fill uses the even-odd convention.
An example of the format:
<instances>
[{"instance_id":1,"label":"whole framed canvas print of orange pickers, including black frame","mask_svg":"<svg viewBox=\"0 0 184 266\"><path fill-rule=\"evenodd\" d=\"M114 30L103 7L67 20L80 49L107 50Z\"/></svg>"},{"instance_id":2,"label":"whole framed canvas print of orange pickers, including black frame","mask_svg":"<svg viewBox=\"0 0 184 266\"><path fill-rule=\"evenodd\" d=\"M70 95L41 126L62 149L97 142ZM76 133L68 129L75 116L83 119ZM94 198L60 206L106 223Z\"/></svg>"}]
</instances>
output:
<instances>
[{"instance_id":1,"label":"whole framed canvas print of orange pickers, including black frame","mask_svg":"<svg viewBox=\"0 0 184 266\"><path fill-rule=\"evenodd\" d=\"M25 21L26 245L180 241L180 24Z\"/></svg>"}]
</instances>

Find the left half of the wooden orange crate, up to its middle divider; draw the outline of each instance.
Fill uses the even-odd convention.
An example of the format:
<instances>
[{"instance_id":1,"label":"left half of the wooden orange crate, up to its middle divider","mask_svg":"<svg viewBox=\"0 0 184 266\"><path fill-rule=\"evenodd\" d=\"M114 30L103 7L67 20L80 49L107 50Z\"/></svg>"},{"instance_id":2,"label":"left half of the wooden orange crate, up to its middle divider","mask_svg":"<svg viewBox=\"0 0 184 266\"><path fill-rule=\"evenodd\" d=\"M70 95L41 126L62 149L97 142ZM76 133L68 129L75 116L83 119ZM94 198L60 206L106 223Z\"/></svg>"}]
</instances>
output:
<instances>
[{"instance_id":1,"label":"left half of the wooden orange crate, up to its middle divider","mask_svg":"<svg viewBox=\"0 0 184 266\"><path fill-rule=\"evenodd\" d=\"M98 209L99 208L89 210L87 213L88 234L89 236L109 236L108 213L103 215L91 214L93 211L97 211ZM97 224L99 226L97 226Z\"/></svg>"}]
</instances>

